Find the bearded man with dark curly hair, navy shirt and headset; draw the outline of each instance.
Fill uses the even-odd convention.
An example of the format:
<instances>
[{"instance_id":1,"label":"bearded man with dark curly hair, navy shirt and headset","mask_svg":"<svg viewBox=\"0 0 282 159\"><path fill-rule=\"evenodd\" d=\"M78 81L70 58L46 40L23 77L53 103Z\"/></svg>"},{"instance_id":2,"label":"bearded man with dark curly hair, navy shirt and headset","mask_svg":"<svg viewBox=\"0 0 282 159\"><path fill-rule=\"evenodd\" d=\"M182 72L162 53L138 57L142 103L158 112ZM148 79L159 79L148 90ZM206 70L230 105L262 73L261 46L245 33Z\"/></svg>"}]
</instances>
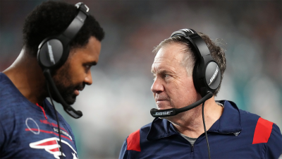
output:
<instances>
[{"instance_id":1,"label":"bearded man with dark curly hair, navy shirt and headset","mask_svg":"<svg viewBox=\"0 0 282 159\"><path fill-rule=\"evenodd\" d=\"M81 117L69 105L92 84L103 38L82 3L47 1L27 16L24 47L0 73L0 158L78 158L71 127L46 98Z\"/></svg>"}]
</instances>

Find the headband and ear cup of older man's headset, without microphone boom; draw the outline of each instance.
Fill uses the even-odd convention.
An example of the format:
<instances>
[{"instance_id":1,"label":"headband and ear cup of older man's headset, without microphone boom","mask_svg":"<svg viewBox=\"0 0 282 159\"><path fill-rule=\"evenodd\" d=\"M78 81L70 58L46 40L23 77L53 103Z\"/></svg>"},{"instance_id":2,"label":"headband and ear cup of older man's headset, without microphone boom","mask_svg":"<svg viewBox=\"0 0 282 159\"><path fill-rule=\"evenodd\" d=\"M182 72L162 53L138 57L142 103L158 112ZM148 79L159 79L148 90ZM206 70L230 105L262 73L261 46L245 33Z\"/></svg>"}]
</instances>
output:
<instances>
[{"instance_id":1,"label":"headband and ear cup of older man's headset, without microphone boom","mask_svg":"<svg viewBox=\"0 0 282 159\"><path fill-rule=\"evenodd\" d=\"M192 44L195 49L197 61L193 69L194 86L200 95L204 97L208 92L214 93L219 88L221 82L221 71L219 64L214 60L207 44L202 37L192 29L182 29L171 34L171 37L184 37L188 44Z\"/></svg>"}]
</instances>

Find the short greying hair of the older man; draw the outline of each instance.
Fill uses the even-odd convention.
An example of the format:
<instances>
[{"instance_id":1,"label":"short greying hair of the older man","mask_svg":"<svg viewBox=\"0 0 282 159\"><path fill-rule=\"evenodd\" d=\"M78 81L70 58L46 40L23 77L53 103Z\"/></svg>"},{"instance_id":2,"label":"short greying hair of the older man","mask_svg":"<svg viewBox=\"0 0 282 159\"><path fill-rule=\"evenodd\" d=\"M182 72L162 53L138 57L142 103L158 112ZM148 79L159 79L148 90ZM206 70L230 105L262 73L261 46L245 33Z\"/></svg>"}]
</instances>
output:
<instances>
[{"instance_id":1,"label":"short greying hair of the older man","mask_svg":"<svg viewBox=\"0 0 282 159\"><path fill-rule=\"evenodd\" d=\"M221 88L221 82L223 80L223 73L226 69L225 52L222 47L219 47L219 44L222 44L221 42L222 40L216 39L215 41L213 41L209 38L209 36L204 35L203 33L197 33L197 34L200 35L200 37L202 37L204 42L207 44L207 47L209 48L209 52L211 52L212 57L217 62L217 64L219 64L219 69L221 70L221 81L219 84L219 88L217 88L214 91L214 96L216 96L217 93L219 93L219 89ZM159 45L154 48L153 53L157 54L157 52L159 52L159 49L161 49L161 47L165 47L166 45L172 44L172 43L178 43L185 47L183 49L183 53L185 54L185 56L183 57L182 64L183 66L185 66L188 76L192 76L192 71L194 69L195 62L197 61L197 56L195 56L194 47L191 47L190 42L186 40L185 38L179 37L179 36L169 37L168 39L159 43ZM190 54L191 52L193 54Z\"/></svg>"}]
</instances>

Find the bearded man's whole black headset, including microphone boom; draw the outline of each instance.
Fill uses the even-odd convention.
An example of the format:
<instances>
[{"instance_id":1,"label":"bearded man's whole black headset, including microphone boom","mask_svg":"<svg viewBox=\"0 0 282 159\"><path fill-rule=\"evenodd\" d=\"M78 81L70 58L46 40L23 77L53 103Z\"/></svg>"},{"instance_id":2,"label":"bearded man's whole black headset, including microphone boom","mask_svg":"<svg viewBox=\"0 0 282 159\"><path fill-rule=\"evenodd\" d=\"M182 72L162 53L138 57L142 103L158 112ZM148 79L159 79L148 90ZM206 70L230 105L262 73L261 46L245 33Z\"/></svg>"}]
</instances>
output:
<instances>
[{"instance_id":1,"label":"bearded man's whole black headset, including microphone boom","mask_svg":"<svg viewBox=\"0 0 282 159\"><path fill-rule=\"evenodd\" d=\"M71 117L78 119L82 117L82 112L74 110L73 107L63 100L50 73L51 70L58 69L66 62L70 52L70 42L74 39L75 35L78 34L78 31L85 23L85 19L89 16L89 8L85 4L80 2L75 4L75 6L78 8L78 15L75 16L71 24L68 25L68 28L60 35L47 37L40 43L37 52L37 61L43 69L47 83L54 90L61 105L63 105L63 109L71 115Z\"/></svg>"}]
</instances>

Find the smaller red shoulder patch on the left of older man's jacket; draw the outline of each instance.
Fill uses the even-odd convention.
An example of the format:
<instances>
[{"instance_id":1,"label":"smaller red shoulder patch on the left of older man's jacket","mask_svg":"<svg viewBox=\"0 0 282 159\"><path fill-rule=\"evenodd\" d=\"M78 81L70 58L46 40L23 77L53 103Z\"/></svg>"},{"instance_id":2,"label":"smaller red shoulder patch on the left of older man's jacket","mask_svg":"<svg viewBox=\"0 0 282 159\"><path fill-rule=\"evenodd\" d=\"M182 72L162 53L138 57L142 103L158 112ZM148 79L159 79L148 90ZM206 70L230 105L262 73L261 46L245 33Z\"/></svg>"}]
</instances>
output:
<instances>
[{"instance_id":1,"label":"smaller red shoulder patch on the left of older man's jacket","mask_svg":"<svg viewBox=\"0 0 282 159\"><path fill-rule=\"evenodd\" d=\"M135 131L134 133L130 134L128 136L128 139L126 140L128 143L128 149L127 150L133 150L133 151L141 151L140 148L140 129Z\"/></svg>"}]
</instances>

